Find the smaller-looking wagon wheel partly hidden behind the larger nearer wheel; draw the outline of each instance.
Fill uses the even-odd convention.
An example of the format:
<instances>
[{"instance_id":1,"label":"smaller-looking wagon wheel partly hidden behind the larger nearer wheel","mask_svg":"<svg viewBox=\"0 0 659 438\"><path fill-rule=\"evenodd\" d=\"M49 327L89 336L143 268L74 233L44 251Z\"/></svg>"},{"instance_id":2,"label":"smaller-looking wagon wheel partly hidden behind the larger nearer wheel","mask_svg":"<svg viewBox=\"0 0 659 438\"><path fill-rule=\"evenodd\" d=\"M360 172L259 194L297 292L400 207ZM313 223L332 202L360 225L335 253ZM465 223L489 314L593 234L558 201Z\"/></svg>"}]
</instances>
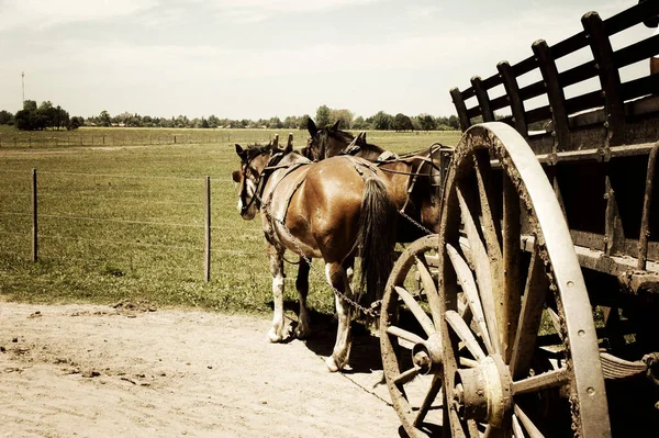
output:
<instances>
[{"instance_id":1,"label":"smaller-looking wagon wheel partly hidden behind the larger nearer wheel","mask_svg":"<svg viewBox=\"0 0 659 438\"><path fill-rule=\"evenodd\" d=\"M393 266L382 297L380 349L387 386L411 437L440 429L442 341L437 235L411 244Z\"/></svg>"}]
</instances>

